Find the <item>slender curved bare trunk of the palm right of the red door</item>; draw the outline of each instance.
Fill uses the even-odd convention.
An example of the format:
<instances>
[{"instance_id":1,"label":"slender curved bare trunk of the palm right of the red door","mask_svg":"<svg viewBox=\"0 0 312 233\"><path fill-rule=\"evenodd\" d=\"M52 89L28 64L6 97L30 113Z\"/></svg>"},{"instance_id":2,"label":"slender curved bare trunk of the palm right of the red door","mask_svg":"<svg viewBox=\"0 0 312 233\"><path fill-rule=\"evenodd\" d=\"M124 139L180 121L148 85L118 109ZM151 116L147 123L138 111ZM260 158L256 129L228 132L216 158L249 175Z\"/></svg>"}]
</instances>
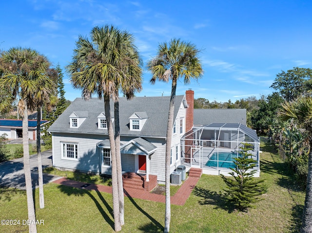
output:
<instances>
[{"instance_id":1,"label":"slender curved bare trunk of the palm right of the red door","mask_svg":"<svg viewBox=\"0 0 312 233\"><path fill-rule=\"evenodd\" d=\"M171 203L170 203L170 156L171 156L171 141L172 141L172 127L174 125L174 112L175 112L175 99L176 99L176 79L172 80L167 137L166 137L166 164L165 164L165 191L166 191L166 210L165 210L165 229L164 233L168 233L170 229L171 219Z\"/></svg>"}]
</instances>

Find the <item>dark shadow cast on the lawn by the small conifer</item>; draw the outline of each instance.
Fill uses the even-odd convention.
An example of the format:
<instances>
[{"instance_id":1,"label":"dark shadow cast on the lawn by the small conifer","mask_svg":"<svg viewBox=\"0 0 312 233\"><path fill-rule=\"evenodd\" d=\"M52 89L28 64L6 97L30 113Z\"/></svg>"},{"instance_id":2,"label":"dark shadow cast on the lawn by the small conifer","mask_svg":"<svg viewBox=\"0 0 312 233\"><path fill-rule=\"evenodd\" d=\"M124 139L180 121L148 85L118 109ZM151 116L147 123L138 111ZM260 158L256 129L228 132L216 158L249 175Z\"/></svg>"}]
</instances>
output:
<instances>
[{"instance_id":1,"label":"dark shadow cast on the lawn by the small conifer","mask_svg":"<svg viewBox=\"0 0 312 233\"><path fill-rule=\"evenodd\" d=\"M215 205L215 209L223 209L229 213L234 212L235 207L225 199L221 193L212 192L208 189L198 188L193 189L193 194L197 197L201 197L198 201L200 205Z\"/></svg>"}]
</instances>

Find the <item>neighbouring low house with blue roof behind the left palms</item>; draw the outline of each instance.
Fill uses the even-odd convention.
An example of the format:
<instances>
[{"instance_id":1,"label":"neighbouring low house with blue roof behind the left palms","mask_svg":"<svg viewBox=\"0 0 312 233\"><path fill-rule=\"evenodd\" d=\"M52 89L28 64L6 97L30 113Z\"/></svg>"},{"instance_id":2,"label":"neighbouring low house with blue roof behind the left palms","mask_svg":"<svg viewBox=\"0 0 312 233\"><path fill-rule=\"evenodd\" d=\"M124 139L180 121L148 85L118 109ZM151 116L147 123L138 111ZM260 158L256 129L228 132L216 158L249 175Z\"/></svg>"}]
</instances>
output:
<instances>
[{"instance_id":1,"label":"neighbouring low house with blue roof behind the left palms","mask_svg":"<svg viewBox=\"0 0 312 233\"><path fill-rule=\"evenodd\" d=\"M5 133L7 139L22 138L22 122L16 119L0 119L0 135ZM43 125L46 122L40 121L40 124ZM28 120L28 138L37 139L37 120Z\"/></svg>"}]
</instances>

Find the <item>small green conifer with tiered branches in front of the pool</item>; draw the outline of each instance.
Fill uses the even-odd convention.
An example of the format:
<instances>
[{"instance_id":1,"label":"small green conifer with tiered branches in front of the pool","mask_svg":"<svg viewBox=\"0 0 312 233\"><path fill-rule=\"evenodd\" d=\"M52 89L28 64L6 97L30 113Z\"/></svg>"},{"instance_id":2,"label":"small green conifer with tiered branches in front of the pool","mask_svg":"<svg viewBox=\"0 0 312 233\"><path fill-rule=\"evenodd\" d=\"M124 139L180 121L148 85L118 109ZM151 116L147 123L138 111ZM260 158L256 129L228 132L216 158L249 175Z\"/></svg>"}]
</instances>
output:
<instances>
[{"instance_id":1,"label":"small green conifer with tiered branches in front of the pool","mask_svg":"<svg viewBox=\"0 0 312 233\"><path fill-rule=\"evenodd\" d=\"M251 203L259 201L261 199L259 196L266 193L266 188L262 184L264 179L254 179L256 171L248 171L257 163L251 158L252 154L247 152L249 146L250 144L244 144L240 156L234 159L235 168L231 168L232 172L229 173L232 177L225 177L221 174L228 186L224 189L225 197L239 211L246 211L248 208L254 207Z\"/></svg>"}]
</instances>

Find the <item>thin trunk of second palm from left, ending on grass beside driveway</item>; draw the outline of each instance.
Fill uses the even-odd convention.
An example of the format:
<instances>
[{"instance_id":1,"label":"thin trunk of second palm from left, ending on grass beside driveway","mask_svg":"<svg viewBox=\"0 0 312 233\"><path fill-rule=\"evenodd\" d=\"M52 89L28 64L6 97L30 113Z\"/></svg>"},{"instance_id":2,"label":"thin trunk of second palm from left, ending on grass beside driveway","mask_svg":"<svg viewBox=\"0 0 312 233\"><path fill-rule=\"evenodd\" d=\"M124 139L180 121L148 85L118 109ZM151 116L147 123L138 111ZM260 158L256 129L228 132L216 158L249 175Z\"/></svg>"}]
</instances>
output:
<instances>
[{"instance_id":1,"label":"thin trunk of second palm from left, ending on grass beside driveway","mask_svg":"<svg viewBox=\"0 0 312 233\"><path fill-rule=\"evenodd\" d=\"M38 157L38 183L39 183L39 206L44 208L44 194L43 194L43 174L41 161L41 145L40 145L40 120L42 108L37 108L37 157Z\"/></svg>"}]
</instances>

